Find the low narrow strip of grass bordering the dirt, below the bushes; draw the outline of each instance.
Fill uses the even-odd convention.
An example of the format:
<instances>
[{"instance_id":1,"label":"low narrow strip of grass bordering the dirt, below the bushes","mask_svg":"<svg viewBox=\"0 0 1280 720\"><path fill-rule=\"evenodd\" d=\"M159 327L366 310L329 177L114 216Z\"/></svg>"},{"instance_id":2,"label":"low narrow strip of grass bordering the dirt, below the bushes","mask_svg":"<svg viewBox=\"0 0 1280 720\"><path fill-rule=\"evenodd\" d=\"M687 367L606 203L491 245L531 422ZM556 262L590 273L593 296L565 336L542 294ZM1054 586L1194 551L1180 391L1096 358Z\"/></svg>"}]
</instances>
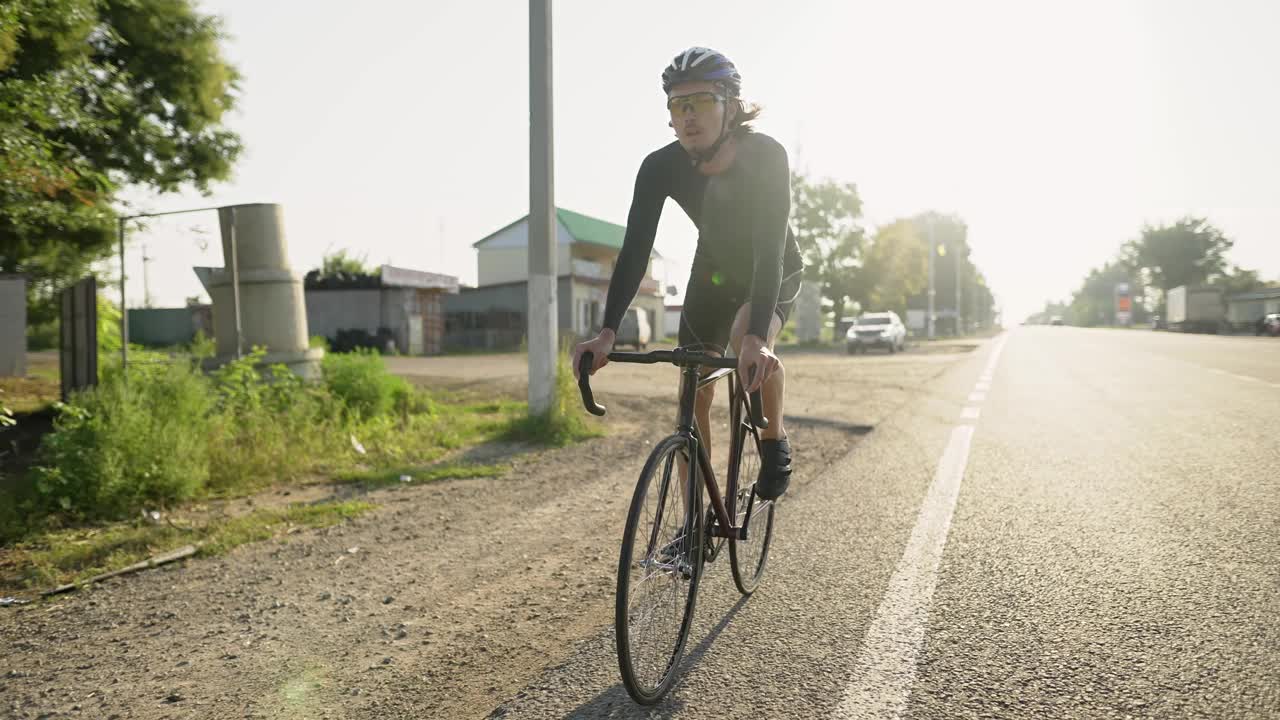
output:
<instances>
[{"instance_id":1,"label":"low narrow strip of grass bordering the dirt, below the bushes","mask_svg":"<svg viewBox=\"0 0 1280 720\"><path fill-rule=\"evenodd\" d=\"M221 555L294 528L337 525L374 507L362 501L321 502L216 518L204 525L134 521L46 532L0 552L0 575L5 578L0 594L79 583L184 544L197 544L200 556Z\"/></svg>"}]
</instances>

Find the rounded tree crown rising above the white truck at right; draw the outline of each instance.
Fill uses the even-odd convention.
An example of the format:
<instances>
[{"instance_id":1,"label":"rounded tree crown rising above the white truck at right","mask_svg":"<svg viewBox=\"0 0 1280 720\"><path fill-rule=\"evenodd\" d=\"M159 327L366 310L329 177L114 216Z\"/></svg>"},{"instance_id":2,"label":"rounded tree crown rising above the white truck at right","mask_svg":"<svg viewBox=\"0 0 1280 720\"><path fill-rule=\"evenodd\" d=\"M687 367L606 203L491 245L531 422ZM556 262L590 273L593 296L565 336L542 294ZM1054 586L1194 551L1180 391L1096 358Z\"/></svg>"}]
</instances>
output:
<instances>
[{"instance_id":1,"label":"rounded tree crown rising above the white truck at right","mask_svg":"<svg viewBox=\"0 0 1280 720\"><path fill-rule=\"evenodd\" d=\"M1204 218L1183 218L1171 225L1146 225L1142 237L1125 245L1124 261L1139 268L1160 290L1204 284L1226 268L1234 241Z\"/></svg>"}]
</instances>

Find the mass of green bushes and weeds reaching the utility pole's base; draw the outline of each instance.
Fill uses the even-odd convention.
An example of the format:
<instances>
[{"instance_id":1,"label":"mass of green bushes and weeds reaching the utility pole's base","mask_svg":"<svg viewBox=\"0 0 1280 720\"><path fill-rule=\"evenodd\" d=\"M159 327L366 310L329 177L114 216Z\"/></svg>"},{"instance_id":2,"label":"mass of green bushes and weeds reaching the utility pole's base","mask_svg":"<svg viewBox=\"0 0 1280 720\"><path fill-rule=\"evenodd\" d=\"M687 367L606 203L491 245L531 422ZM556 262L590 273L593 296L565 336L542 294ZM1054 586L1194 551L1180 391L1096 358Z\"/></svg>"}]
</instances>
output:
<instances>
[{"instance_id":1,"label":"mass of green bushes and weeds reaching the utility pole's base","mask_svg":"<svg viewBox=\"0 0 1280 720\"><path fill-rule=\"evenodd\" d=\"M32 495L0 497L0 542L311 473L421 465L499 437L566 445L599 434L564 356L556 402L539 416L516 401L435 405L369 351L328 355L324 383L314 384L283 365L264 373L262 357L255 350L212 375L186 361L131 365L128 382L119 364L105 364L96 388L58 405Z\"/></svg>"}]
</instances>

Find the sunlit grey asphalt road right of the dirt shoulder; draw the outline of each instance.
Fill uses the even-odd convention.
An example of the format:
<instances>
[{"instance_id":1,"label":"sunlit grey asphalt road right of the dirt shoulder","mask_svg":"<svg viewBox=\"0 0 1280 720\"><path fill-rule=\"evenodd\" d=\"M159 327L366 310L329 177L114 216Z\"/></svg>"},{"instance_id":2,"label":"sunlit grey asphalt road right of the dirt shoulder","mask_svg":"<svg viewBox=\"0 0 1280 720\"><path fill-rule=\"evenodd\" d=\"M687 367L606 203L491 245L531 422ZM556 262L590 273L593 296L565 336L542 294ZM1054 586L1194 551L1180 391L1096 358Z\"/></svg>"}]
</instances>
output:
<instances>
[{"instance_id":1,"label":"sunlit grey asphalt road right of the dirt shoulder","mask_svg":"<svg viewBox=\"0 0 1280 720\"><path fill-rule=\"evenodd\" d=\"M492 715L1280 717L1277 436L1277 341L1015 329L709 566L662 705L602 628Z\"/></svg>"}]
</instances>

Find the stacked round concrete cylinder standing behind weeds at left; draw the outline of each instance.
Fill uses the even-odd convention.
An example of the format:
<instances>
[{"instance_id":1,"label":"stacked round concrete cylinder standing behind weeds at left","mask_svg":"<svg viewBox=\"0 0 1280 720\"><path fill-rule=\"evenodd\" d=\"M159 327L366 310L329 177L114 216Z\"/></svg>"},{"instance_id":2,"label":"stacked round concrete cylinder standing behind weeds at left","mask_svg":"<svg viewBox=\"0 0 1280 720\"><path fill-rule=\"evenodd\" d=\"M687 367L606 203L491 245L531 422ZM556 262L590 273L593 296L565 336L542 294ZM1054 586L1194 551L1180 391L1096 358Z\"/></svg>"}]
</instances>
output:
<instances>
[{"instance_id":1,"label":"stacked round concrete cylinder standing behind weeds at left","mask_svg":"<svg viewBox=\"0 0 1280 720\"><path fill-rule=\"evenodd\" d=\"M283 363L303 378L319 379L324 351L308 347L302 277L289 266L284 209L273 204L234 205L219 208L218 219L227 266L201 278L214 301L218 355L212 364L236 359L237 350L250 352L261 346L266 348L264 363ZM233 256L238 273L232 272ZM233 274L239 279L238 297Z\"/></svg>"}]
</instances>

